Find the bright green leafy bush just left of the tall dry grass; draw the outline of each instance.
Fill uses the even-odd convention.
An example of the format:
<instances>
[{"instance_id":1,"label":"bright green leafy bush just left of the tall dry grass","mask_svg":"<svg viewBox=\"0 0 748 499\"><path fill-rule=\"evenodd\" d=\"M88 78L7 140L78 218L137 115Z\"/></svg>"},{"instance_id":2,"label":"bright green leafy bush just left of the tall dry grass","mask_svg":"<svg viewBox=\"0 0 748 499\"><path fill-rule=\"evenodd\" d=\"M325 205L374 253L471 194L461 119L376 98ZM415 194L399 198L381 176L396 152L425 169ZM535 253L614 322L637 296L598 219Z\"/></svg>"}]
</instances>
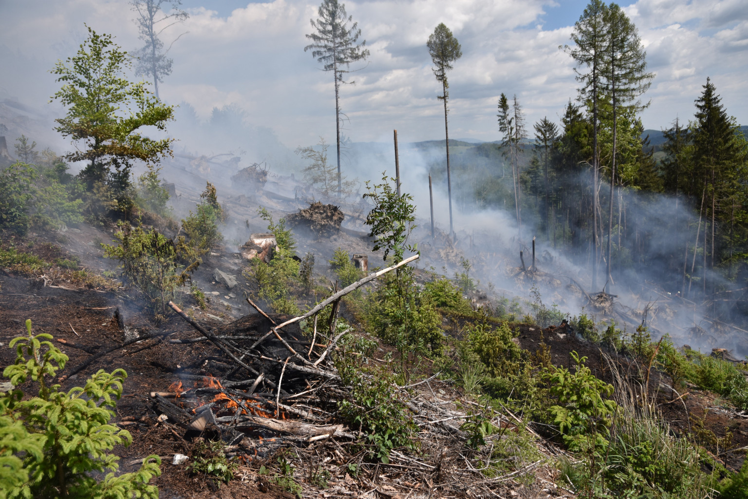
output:
<instances>
[{"instance_id":1,"label":"bright green leafy bush just left of the tall dry grass","mask_svg":"<svg viewBox=\"0 0 748 499\"><path fill-rule=\"evenodd\" d=\"M584 365L586 357L571 352L571 358L576 364L574 373L553 366L544 375L551 385L551 397L559 402L548 411L571 450L604 446L618 407L612 399L604 398L613 394L613 386L592 375Z\"/></svg>"}]
</instances>

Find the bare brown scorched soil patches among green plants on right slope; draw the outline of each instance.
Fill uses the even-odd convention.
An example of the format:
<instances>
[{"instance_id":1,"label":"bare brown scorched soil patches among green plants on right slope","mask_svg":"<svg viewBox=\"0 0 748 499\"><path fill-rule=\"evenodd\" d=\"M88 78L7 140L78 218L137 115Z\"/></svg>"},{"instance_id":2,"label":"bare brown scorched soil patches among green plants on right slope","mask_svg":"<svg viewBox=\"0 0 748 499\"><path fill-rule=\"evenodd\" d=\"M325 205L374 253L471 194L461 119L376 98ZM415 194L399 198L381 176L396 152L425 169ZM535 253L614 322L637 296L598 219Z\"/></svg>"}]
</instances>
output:
<instances>
[{"instance_id":1,"label":"bare brown scorched soil patches among green plants on right slope","mask_svg":"<svg viewBox=\"0 0 748 499\"><path fill-rule=\"evenodd\" d=\"M571 367L574 364L571 352L577 352L587 358L586 366L592 370L600 379L613 382L610 367L604 361L604 355L619 365L619 370L627 373L632 379L638 379L638 369L631 358L618 355L610 349L601 347L584 340L578 335L564 334L560 328L541 329L536 326L518 325L520 335L519 341L523 349L536 352L542 340L551 349L551 359L557 366ZM684 397L672 394L669 389L669 379L652 368L649 378L649 400L654 402L657 409L661 411L663 420L669 424L672 432L678 435L686 435L691 432L698 435L702 445L714 455L719 453L718 459L726 467L738 471L745 459L745 450L741 447L748 446L748 414L740 414L729 405L729 402L708 391L700 391L694 385L688 385L681 394ZM687 414L686 414L687 411ZM711 432L711 434L710 434ZM728 433L732 434L730 438ZM723 449L721 444L717 448L713 438L725 438L730 441L729 447ZM726 450L736 452L726 452Z\"/></svg>"}]
</instances>

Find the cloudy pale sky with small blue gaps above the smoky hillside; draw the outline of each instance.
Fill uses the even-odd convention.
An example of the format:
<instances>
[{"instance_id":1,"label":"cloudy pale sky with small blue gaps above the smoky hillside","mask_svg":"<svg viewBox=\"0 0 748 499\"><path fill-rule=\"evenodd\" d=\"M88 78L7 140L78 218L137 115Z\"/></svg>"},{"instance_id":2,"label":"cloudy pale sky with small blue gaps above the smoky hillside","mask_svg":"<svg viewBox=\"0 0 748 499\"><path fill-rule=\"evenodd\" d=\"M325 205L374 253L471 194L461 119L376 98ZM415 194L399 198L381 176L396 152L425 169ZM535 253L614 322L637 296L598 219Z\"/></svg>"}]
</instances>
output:
<instances>
[{"instance_id":1,"label":"cloudy pale sky with small blue gaps above the smoky hillside","mask_svg":"<svg viewBox=\"0 0 748 499\"><path fill-rule=\"evenodd\" d=\"M449 74L450 137L499 138L501 93L517 95L528 129L548 117L559 122L576 97L569 43L586 1L579 0L366 0L346 1L370 58L352 65L355 85L341 89L352 141L444 137L441 91L426 40L444 22L462 44ZM729 114L748 124L748 1L623 1L639 28L649 70L644 96L646 128L693 117L693 101L711 77ZM214 107L238 105L252 126L272 129L286 146L334 143L334 88L304 52L319 4L303 0L183 0L190 14L162 34L173 73L159 85L162 99L188 104L201 119ZM123 49L141 46L125 0L0 0L0 101L17 99L59 115L49 97L59 88L49 70L76 51L84 22L113 34Z\"/></svg>"}]
</instances>

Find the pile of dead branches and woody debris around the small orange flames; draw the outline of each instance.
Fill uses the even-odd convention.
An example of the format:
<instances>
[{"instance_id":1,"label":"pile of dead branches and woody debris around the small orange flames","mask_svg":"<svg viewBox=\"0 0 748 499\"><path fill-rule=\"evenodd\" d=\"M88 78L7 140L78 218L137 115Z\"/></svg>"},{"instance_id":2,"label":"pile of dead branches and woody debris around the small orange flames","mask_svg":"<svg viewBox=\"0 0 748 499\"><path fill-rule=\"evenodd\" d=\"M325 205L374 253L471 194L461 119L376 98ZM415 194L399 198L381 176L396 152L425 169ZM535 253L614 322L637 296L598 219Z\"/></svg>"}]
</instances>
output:
<instances>
[{"instance_id":1,"label":"pile of dead branches and woody debris around the small orange flames","mask_svg":"<svg viewBox=\"0 0 748 499\"><path fill-rule=\"evenodd\" d=\"M451 399L441 389L438 391L444 398L437 397L432 384L439 383L435 381L438 373L412 385L391 387L399 403L411 412L417 428L413 452L396 448L388 450L387 459L372 459L371 435L361 432L358 425L346 427L346 421L340 420L337 407L341 400L360 402L352 397L352 387L341 379L331 362L332 352L346 333L338 331L335 325L340 299L417 258L415 255L372 273L334 293L309 312L292 318L266 314L248 299L259 313L209 329L170 302L172 309L198 334L180 339L164 338L171 333L152 337L174 346L212 343L222 355L197 364L211 361L212 375L206 376L199 368L194 373L181 370L168 391L150 393L156 411L161 414L159 422L172 428L180 439L199 436L222 440L227 457L241 457L247 463L242 472L255 474L258 486L268 476L258 474L257 467L251 465L254 459L269 465L286 459L295 468L308 471L304 485L307 497L310 497L307 492L313 495L319 492L320 497L324 494L324 497L368 499L405 498L413 493L423 498L504 497L502 494L517 495L512 494L514 489L527 487L516 479L525 477L522 481L526 482L530 476L533 486L543 489L544 495L570 497L554 483L554 476L545 468L561 451L545 444L532 429L525 430L525 425L510 411L502 414L491 411L488 420L500 431L484 435L485 441L480 445L469 444L476 433L466 431L463 423L482 421L483 416L476 414L485 414L485 408L470 400ZM323 324L318 314L329 305L330 319ZM311 337L302 333L299 327L302 320L313 320ZM149 338L138 337L115 348ZM112 350L92 355L68 376ZM376 358L371 361L386 362ZM485 467L479 463L491 462L494 444L524 431L537 438L541 457L532 462L515 459L506 472L486 475ZM327 478L321 480L323 473ZM311 480L312 474L316 474L315 480Z\"/></svg>"}]
</instances>

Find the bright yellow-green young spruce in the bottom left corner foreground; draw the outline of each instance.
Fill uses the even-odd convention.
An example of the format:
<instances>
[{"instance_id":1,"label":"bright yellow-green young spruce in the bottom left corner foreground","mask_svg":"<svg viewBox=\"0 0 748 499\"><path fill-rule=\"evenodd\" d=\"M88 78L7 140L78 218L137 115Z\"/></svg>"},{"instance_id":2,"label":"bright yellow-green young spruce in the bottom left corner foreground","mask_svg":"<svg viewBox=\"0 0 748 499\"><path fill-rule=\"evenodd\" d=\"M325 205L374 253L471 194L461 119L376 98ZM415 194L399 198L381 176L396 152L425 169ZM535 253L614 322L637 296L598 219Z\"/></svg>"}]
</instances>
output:
<instances>
[{"instance_id":1,"label":"bright yellow-green young spruce in the bottom left corner foreground","mask_svg":"<svg viewBox=\"0 0 748 499\"><path fill-rule=\"evenodd\" d=\"M135 473L115 476L115 445L129 445L129 432L109 424L116 399L122 395L126 373L99 370L84 387L67 393L48 379L64 368L67 355L52 343L50 334L32 334L10 341L16 361L3 376L14 386L31 381L37 395L19 389L0 394L0 498L158 498L148 485L159 476L158 456L148 456ZM93 474L105 473L98 481Z\"/></svg>"}]
</instances>

